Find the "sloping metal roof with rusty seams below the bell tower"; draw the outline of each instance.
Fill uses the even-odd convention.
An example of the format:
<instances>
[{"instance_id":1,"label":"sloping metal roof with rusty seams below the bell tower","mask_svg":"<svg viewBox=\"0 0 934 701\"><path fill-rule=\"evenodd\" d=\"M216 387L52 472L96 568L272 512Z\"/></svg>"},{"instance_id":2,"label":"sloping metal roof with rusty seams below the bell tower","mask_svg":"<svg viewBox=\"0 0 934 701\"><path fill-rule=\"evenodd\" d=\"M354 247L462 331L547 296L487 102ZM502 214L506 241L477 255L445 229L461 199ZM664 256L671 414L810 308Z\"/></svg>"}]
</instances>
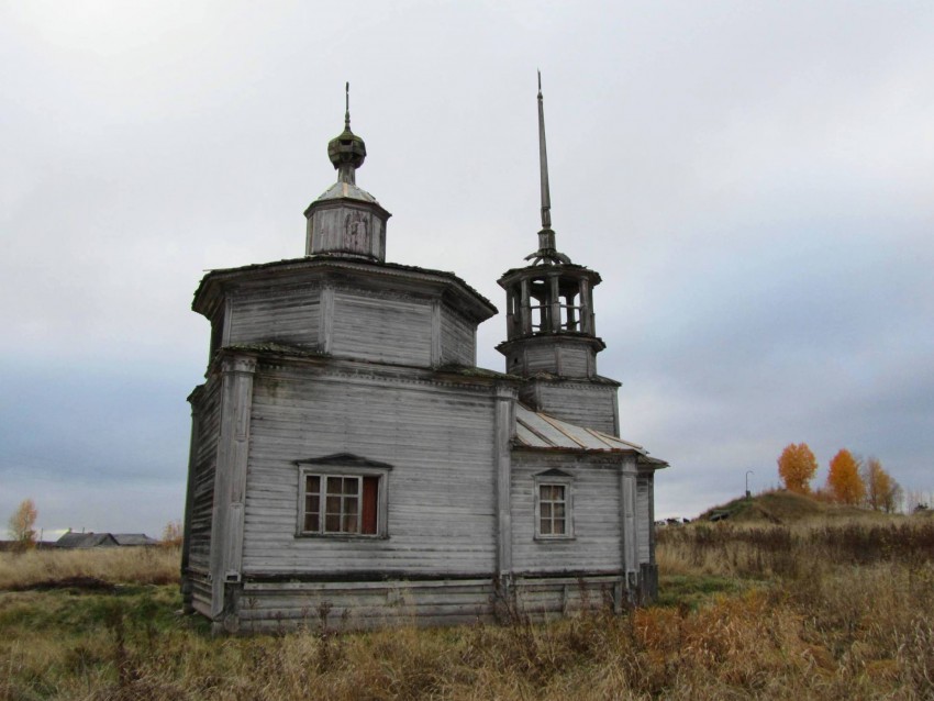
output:
<instances>
[{"instance_id":1,"label":"sloping metal roof with rusty seams below the bell tower","mask_svg":"<svg viewBox=\"0 0 934 701\"><path fill-rule=\"evenodd\" d=\"M585 429L548 414L515 405L515 439L529 448L556 448L565 450L599 450L607 453L638 453L646 461L659 466L664 460L649 458L648 450L636 443L611 436L602 431Z\"/></svg>"}]
</instances>

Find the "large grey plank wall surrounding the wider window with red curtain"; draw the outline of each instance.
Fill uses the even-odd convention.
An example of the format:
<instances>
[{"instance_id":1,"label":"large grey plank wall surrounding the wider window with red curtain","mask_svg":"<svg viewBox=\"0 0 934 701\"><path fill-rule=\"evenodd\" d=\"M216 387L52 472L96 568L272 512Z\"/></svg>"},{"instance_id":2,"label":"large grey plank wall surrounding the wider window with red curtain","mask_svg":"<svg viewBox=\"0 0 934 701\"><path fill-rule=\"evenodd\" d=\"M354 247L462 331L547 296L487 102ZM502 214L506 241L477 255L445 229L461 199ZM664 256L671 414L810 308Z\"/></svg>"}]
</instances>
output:
<instances>
[{"instance_id":1,"label":"large grey plank wall surrounding the wider window with red curtain","mask_svg":"<svg viewBox=\"0 0 934 701\"><path fill-rule=\"evenodd\" d=\"M244 571L430 575L494 567L493 398L349 370L260 365L254 386ZM388 539L296 537L296 459L389 463ZM456 558L453 556L456 555Z\"/></svg>"}]
</instances>

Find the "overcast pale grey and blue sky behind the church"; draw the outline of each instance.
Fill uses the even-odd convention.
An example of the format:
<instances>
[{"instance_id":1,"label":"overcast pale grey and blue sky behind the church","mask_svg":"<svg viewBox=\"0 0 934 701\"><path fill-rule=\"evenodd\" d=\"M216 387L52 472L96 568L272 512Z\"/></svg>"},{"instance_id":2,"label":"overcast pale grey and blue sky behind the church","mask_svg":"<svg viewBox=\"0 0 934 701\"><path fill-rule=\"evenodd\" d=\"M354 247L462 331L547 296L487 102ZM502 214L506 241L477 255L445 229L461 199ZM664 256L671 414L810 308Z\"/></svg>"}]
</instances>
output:
<instances>
[{"instance_id":1,"label":"overcast pale grey and blue sky behind the church","mask_svg":"<svg viewBox=\"0 0 934 701\"><path fill-rule=\"evenodd\" d=\"M598 270L656 513L807 442L934 489L934 4L0 3L0 516L159 535L184 511L203 271L304 253L344 81L387 258ZM503 315L479 332L479 365Z\"/></svg>"}]
</instances>

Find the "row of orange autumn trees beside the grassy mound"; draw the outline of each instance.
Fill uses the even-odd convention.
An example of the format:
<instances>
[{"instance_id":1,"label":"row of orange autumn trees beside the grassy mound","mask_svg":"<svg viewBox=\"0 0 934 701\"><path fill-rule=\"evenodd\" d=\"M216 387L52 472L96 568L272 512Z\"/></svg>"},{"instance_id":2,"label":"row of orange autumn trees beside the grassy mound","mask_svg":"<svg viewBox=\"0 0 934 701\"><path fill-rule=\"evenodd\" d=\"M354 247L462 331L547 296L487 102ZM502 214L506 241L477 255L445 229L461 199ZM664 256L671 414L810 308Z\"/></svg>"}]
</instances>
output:
<instances>
[{"instance_id":1,"label":"row of orange autumn trees beside the grassy mound","mask_svg":"<svg viewBox=\"0 0 934 701\"><path fill-rule=\"evenodd\" d=\"M791 443L778 458L778 476L785 488L799 494L813 494L841 504L865 505L874 511L898 511L904 492L896 479L886 471L878 458L863 460L842 448L830 461L826 485L811 490L811 480L818 471L818 460L807 443ZM914 494L912 494L914 497ZM916 504L927 508L920 499Z\"/></svg>"}]
</instances>

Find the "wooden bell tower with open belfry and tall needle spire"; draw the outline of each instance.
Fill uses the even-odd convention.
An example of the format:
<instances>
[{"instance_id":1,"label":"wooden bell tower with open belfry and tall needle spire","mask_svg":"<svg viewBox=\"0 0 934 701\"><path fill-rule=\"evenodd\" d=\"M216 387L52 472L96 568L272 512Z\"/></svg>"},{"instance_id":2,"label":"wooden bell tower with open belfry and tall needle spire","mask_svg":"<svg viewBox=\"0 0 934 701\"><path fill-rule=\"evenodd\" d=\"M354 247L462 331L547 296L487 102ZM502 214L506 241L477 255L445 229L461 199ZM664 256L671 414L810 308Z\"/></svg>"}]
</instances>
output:
<instances>
[{"instance_id":1,"label":"wooden bell tower with open belfry and tall needle spire","mask_svg":"<svg viewBox=\"0 0 934 701\"><path fill-rule=\"evenodd\" d=\"M555 244L541 73L538 160L538 249L525 257L530 265L508 270L499 279L505 290L507 340L497 350L505 356L507 372L526 379L520 399L531 409L619 435L620 383L597 374L597 354L607 347L597 335L593 311L593 288L600 275L571 263Z\"/></svg>"}]
</instances>

